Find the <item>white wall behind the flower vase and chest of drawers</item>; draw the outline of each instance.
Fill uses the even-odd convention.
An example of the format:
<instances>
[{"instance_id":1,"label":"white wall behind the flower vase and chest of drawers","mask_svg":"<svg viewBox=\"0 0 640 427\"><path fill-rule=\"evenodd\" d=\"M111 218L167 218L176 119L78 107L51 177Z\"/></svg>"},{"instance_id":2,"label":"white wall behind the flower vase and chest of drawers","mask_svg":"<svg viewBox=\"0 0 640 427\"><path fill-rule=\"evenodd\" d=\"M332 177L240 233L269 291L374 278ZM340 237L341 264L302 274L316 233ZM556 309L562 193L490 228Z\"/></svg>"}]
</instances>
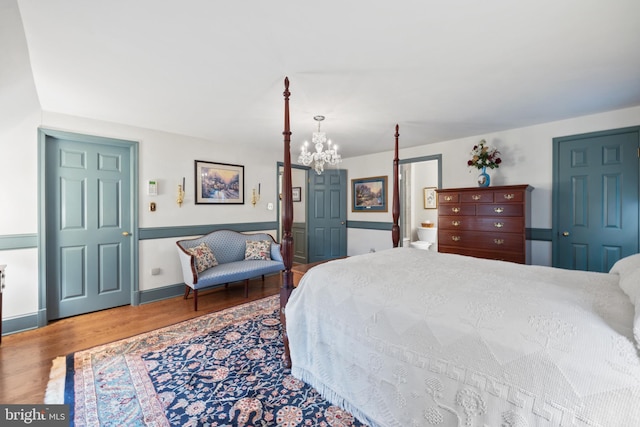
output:
<instances>
[{"instance_id":1,"label":"white wall behind the flower vase and chest of drawers","mask_svg":"<svg viewBox=\"0 0 640 427\"><path fill-rule=\"evenodd\" d=\"M469 171L466 166L469 152L481 139L495 145L502 153L502 164L491 173L491 185L529 184L535 189L532 192L532 228L550 229L552 227L552 149L553 138L616 129L640 125L640 106L601 114L582 116L568 120L543 123L519 129L510 129L486 135L477 135L427 144L412 148L400 148L400 158L412 158L442 154L442 185L444 188L476 186L478 171ZM402 132L406 141L419 139L419 135L408 135ZM349 171L352 178L388 175L392 185L393 173L393 141L389 140L389 151L376 153L364 158L345 159L342 167ZM392 222L391 211L386 213L349 212L350 221ZM353 240L361 238L362 233L349 233L349 253L357 254L362 247ZM375 239L374 239L375 237ZM379 238L379 240L378 240ZM366 246L391 247L390 233L372 233ZM373 240L373 241L372 241ZM355 248L358 248L357 251ZM549 242L533 242L532 263L551 265L551 244Z\"/></svg>"}]
</instances>

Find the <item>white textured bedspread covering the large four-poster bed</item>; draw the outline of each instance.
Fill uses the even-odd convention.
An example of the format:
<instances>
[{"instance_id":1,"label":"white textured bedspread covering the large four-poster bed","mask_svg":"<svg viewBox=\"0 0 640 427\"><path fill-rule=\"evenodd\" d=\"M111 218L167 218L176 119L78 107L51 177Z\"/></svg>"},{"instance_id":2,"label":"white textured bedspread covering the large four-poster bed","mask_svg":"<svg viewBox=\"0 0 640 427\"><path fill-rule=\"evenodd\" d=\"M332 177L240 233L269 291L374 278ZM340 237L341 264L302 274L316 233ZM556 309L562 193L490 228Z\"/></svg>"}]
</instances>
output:
<instances>
[{"instance_id":1,"label":"white textured bedspread covering the large four-poster bed","mask_svg":"<svg viewBox=\"0 0 640 427\"><path fill-rule=\"evenodd\" d=\"M398 248L331 261L287 306L292 373L374 426L640 426L615 274Z\"/></svg>"}]
</instances>

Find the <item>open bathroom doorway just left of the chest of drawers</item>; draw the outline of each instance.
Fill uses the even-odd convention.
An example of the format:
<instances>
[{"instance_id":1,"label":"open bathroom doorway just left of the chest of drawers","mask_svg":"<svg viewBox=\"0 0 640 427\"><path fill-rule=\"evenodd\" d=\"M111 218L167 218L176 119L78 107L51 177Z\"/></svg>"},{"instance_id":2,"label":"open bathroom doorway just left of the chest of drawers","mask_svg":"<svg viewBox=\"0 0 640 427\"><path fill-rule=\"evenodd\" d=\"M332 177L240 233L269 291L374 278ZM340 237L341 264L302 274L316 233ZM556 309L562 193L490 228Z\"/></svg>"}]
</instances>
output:
<instances>
[{"instance_id":1,"label":"open bathroom doorway just left of the chest of drawers","mask_svg":"<svg viewBox=\"0 0 640 427\"><path fill-rule=\"evenodd\" d=\"M420 237L437 240L437 202L429 199L433 189L442 188L442 154L403 159L400 166L400 235L401 245L421 246ZM426 190L426 191L425 191ZM436 199L437 200L437 199ZM431 228L421 232L421 228ZM437 241L431 242L429 250L437 251Z\"/></svg>"}]
</instances>

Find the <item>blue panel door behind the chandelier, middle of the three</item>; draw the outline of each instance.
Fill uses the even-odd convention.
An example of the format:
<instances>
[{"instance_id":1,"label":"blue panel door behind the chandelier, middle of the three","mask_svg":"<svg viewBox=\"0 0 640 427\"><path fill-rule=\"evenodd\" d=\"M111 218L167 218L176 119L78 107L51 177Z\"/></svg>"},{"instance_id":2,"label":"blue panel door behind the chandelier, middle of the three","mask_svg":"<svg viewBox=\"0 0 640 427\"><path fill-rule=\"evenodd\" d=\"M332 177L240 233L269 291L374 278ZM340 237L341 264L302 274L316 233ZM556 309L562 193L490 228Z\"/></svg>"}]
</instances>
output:
<instances>
[{"instance_id":1,"label":"blue panel door behind the chandelier, middle of the three","mask_svg":"<svg viewBox=\"0 0 640 427\"><path fill-rule=\"evenodd\" d=\"M308 262L347 255L347 171L309 173Z\"/></svg>"}]
</instances>

